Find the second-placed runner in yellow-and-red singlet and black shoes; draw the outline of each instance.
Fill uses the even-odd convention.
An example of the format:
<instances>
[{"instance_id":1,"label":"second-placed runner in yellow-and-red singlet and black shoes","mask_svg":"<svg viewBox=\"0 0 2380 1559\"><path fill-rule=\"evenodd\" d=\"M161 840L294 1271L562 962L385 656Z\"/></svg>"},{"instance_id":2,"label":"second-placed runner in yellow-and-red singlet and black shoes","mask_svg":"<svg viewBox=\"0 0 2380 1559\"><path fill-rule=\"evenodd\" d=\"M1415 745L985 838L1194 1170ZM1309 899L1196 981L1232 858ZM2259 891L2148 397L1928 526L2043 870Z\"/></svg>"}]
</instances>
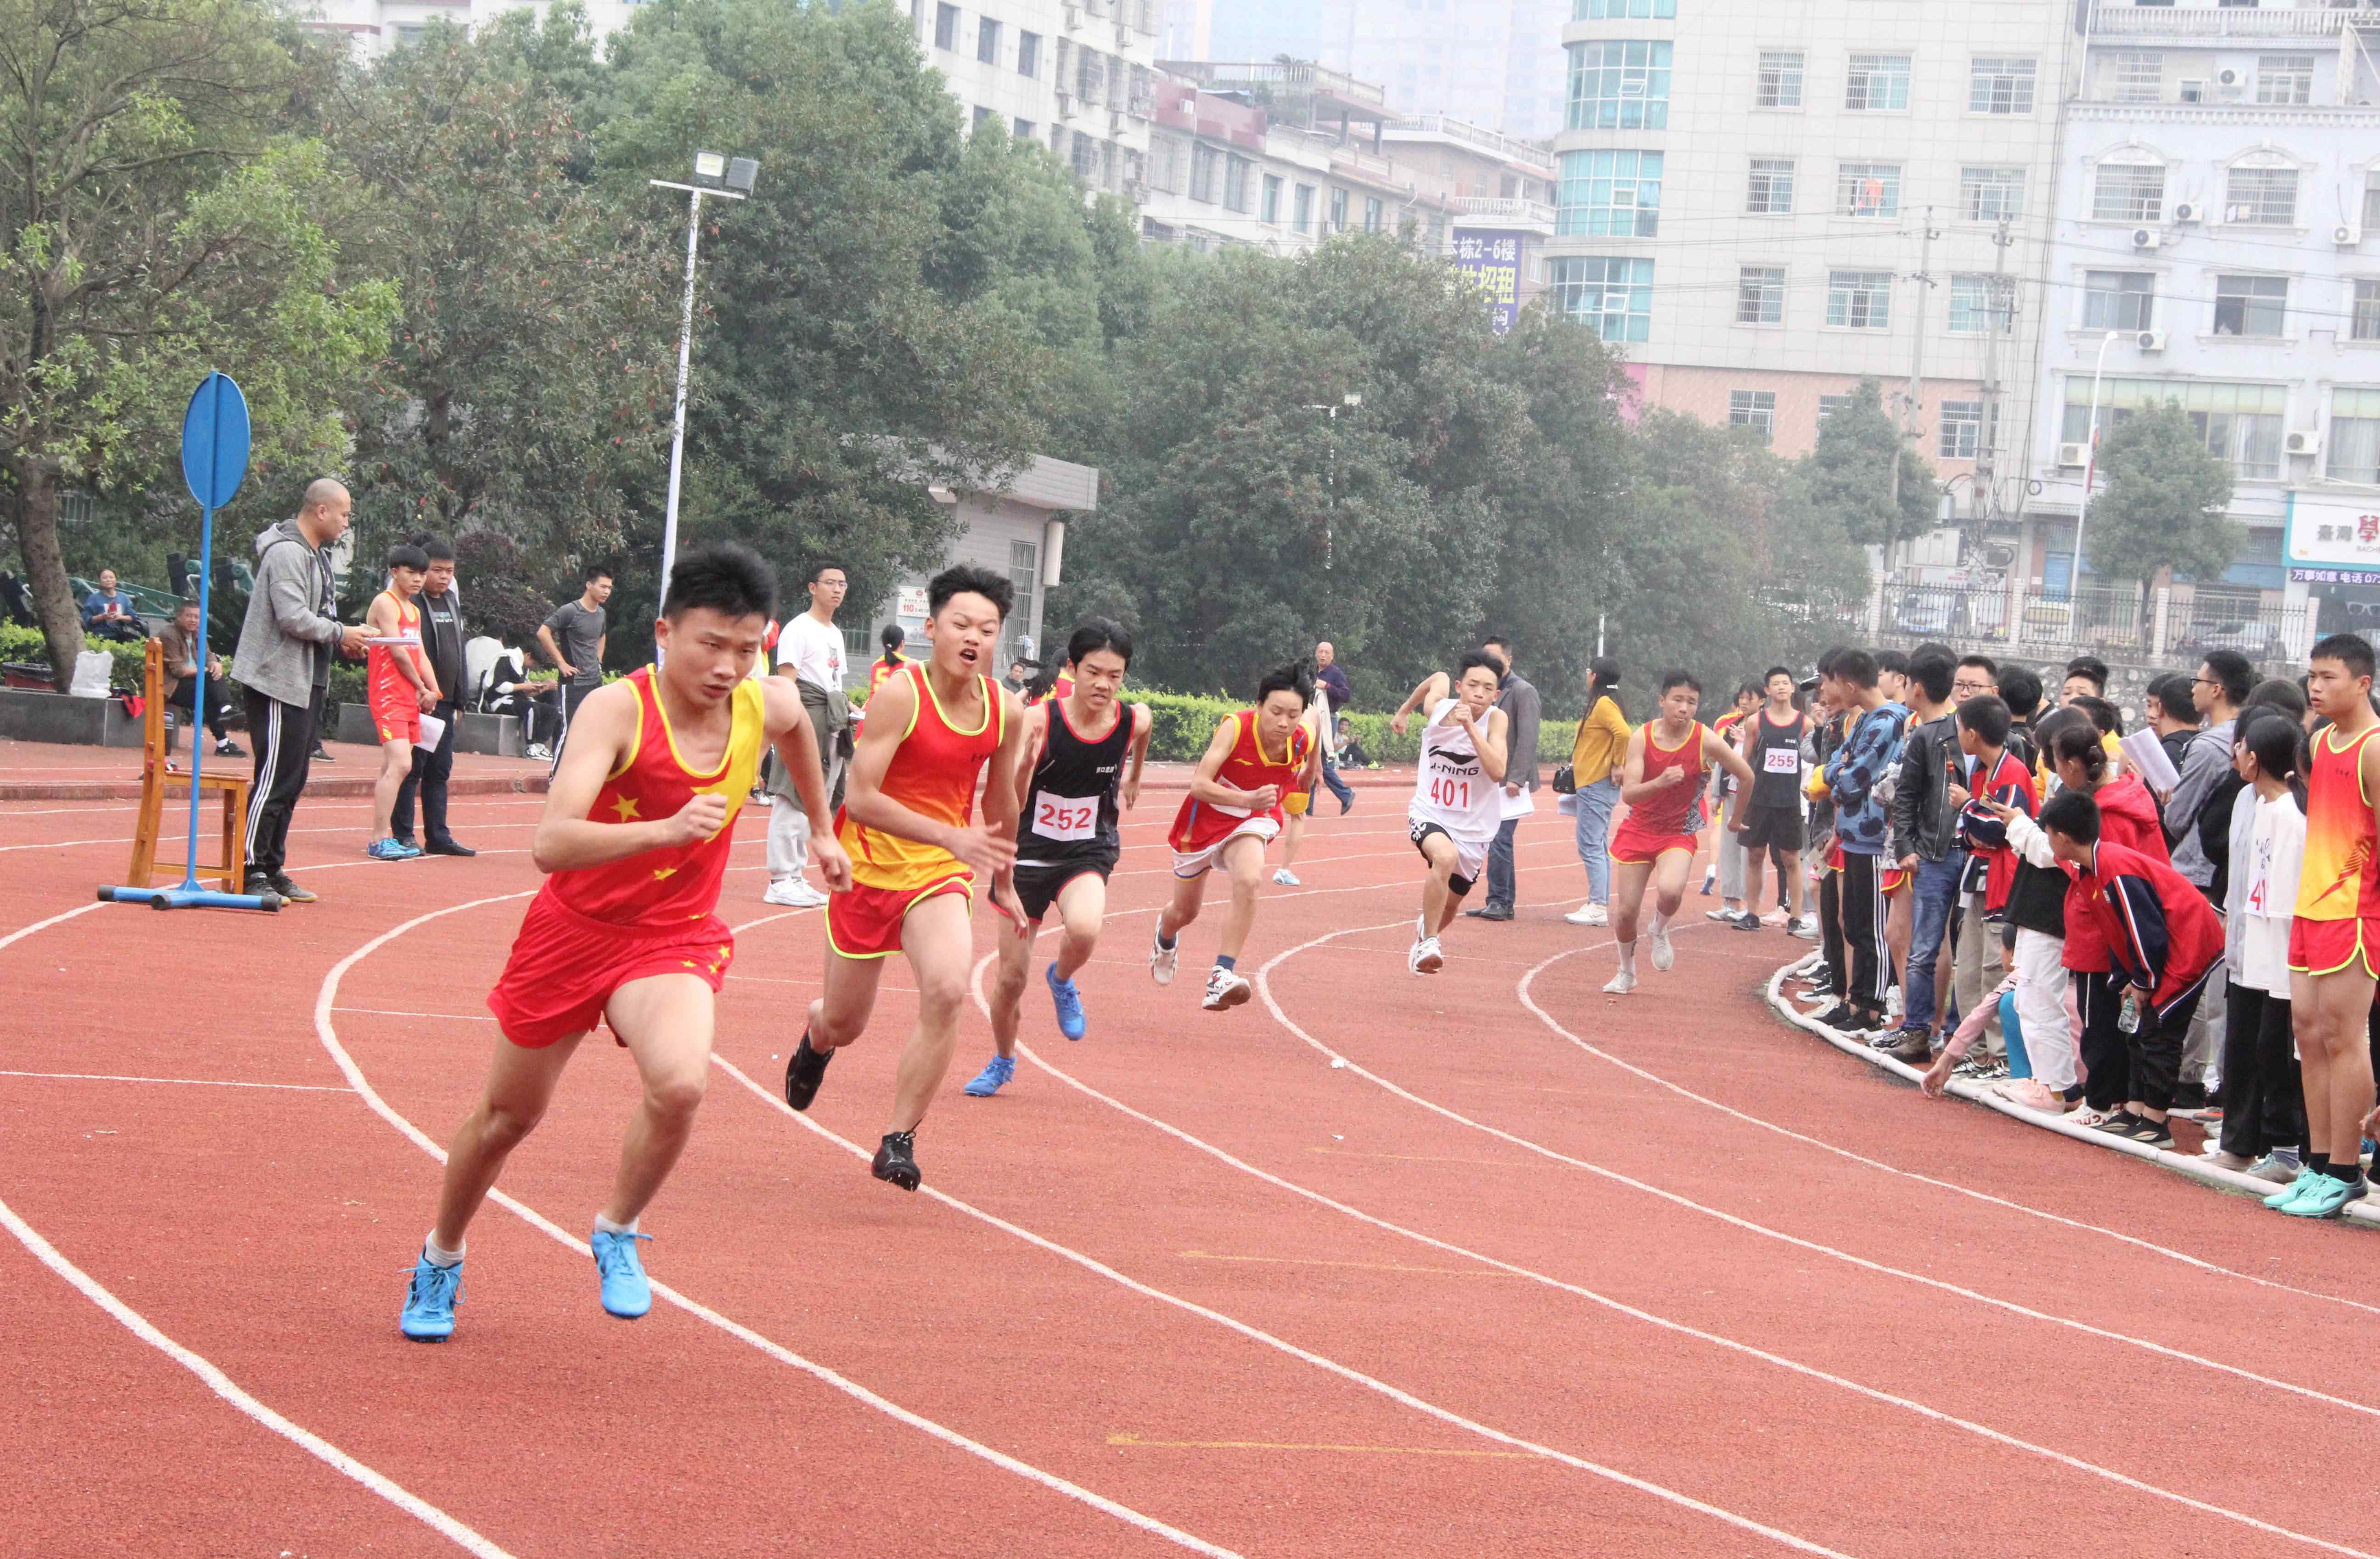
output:
<instances>
[{"instance_id":1,"label":"second-placed runner in yellow-and-red singlet and black shoes","mask_svg":"<svg viewBox=\"0 0 2380 1559\"><path fill-rule=\"evenodd\" d=\"M876 983L895 952L916 976L916 1023L900 1057L892 1123L871 1171L916 1190L916 1128L959 1043L976 945L966 928L976 874L992 904L1026 933L1016 904L1016 757L1023 709L988 671L1014 593L1007 574L942 569L926 586L931 655L885 678L852 752L835 835L852 857L852 890L826 907L826 995L785 1059L785 1102L809 1109L835 1050L876 1012ZM983 821L973 819L976 778Z\"/></svg>"}]
</instances>

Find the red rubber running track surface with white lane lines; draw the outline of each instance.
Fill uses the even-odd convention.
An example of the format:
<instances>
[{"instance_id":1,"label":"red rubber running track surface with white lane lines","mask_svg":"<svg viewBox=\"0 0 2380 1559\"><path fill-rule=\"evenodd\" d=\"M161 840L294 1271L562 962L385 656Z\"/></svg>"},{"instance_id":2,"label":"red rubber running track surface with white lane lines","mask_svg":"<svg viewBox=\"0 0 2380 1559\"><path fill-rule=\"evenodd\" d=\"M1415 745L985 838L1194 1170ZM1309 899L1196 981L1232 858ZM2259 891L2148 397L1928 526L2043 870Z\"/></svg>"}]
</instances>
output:
<instances>
[{"instance_id":1,"label":"red rubber running track surface with white lane lines","mask_svg":"<svg viewBox=\"0 0 2380 1559\"><path fill-rule=\"evenodd\" d=\"M771 1097L823 935L759 904L747 812L721 1064L645 1216L712 1319L612 1321L583 1250L490 1202L443 1347L395 1328L438 1183L400 1121L443 1142L476 1095L538 800L457 797L483 854L407 864L359 857L367 802L307 800L319 904L33 931L121 871L131 807L0 804L7 1547L2380 1552L2368 1480L2294 1466L2380 1435L2361 1233L1921 1100L1773 1021L1759 981L1806 945L1714 900L1604 997L1554 816L1521 919L1457 921L1435 978L1397 797L1316 819L1259 1000L1200 1012L1221 890L1180 981L1145 971L1171 802L1128 821L1090 1038L1054 1033L1045 940L1028 1057L962 1097L969 1009L916 1197L847 1147L890 1109L904 964L812 1114ZM593 1038L500 1190L583 1238L631 1107Z\"/></svg>"}]
</instances>

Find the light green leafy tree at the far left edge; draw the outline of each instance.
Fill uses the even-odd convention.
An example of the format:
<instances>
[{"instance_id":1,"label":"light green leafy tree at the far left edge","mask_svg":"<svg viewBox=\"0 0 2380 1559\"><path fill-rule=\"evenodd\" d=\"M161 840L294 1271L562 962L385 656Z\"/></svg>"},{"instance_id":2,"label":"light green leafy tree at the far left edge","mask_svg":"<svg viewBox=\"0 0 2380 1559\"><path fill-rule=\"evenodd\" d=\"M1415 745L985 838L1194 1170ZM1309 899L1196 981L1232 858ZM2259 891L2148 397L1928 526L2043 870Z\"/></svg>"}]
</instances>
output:
<instances>
[{"instance_id":1,"label":"light green leafy tree at the far left edge","mask_svg":"<svg viewBox=\"0 0 2380 1559\"><path fill-rule=\"evenodd\" d=\"M171 474L207 369L248 393L259 512L345 443L395 290L340 276L347 190L288 131L302 67L262 0L0 10L0 471L60 685L83 645L64 486Z\"/></svg>"}]
</instances>

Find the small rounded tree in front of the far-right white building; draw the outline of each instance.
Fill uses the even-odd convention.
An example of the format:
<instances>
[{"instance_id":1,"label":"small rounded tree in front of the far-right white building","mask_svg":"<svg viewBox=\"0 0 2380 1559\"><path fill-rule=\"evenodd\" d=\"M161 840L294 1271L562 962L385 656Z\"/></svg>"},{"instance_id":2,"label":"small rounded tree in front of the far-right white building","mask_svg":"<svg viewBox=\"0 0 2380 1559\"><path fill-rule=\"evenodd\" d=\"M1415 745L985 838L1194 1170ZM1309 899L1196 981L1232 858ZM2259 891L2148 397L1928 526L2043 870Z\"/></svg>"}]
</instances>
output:
<instances>
[{"instance_id":1,"label":"small rounded tree in front of the far-right white building","mask_svg":"<svg viewBox=\"0 0 2380 1559\"><path fill-rule=\"evenodd\" d=\"M2085 516L2085 559L2109 581L2152 581L2159 569L2216 578L2240 557L2240 526L2225 519L2230 467L2180 405L2142 407L2099 440L2106 488Z\"/></svg>"}]
</instances>

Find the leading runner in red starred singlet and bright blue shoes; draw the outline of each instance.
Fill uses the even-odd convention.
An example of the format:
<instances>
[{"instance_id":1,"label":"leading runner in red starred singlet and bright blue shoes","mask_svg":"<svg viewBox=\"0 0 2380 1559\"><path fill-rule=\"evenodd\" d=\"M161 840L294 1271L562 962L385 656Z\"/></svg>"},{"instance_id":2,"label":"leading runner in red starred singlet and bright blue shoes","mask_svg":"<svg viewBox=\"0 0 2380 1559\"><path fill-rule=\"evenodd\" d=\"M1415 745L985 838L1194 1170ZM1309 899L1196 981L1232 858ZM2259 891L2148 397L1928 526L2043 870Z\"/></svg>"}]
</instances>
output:
<instances>
[{"instance_id":1,"label":"leading runner in red starred singlet and bright blue shoes","mask_svg":"<svg viewBox=\"0 0 2380 1559\"><path fill-rule=\"evenodd\" d=\"M850 885L850 862L826 833L826 776L802 700L790 683L745 676L774 595L769 564L752 552L688 552L652 631L659 669L578 705L531 843L550 876L488 993L502 1038L488 1088L447 1147L438 1226L400 1319L407 1338L455 1331L464 1231L600 1021L635 1057L643 1102L588 1245L607 1311L633 1319L652 1307L635 1221L678 1162L709 1078L712 997L735 957L714 914L719 876L762 743L795 776L828 888Z\"/></svg>"}]
</instances>

